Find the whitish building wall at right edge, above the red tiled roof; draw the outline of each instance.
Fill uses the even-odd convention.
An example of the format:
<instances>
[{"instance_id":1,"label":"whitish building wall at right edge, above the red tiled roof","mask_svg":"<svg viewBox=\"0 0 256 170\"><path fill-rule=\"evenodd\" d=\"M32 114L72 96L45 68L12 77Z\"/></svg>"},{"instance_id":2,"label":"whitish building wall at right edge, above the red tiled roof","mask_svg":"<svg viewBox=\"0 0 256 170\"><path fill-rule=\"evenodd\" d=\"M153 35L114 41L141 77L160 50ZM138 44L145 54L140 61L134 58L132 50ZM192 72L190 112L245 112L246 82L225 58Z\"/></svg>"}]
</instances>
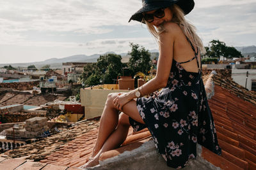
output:
<instances>
[{"instance_id":1,"label":"whitish building wall at right edge, above the red tiled roof","mask_svg":"<svg viewBox=\"0 0 256 170\"><path fill-rule=\"evenodd\" d=\"M232 78L236 83L245 87L246 83L246 72L248 71L247 85L248 90L252 90L252 80L256 80L255 69L232 69Z\"/></svg>"}]
</instances>

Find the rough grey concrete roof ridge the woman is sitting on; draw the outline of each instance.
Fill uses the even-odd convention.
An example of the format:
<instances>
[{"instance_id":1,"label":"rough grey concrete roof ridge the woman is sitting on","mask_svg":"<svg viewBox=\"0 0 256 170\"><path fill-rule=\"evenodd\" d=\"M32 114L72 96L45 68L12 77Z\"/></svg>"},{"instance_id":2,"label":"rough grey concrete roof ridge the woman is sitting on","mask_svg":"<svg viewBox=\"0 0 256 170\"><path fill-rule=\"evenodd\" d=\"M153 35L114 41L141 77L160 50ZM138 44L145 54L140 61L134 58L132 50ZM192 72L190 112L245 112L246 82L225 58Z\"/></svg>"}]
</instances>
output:
<instances>
[{"instance_id":1,"label":"rough grey concrete roof ridge the woman is sitting on","mask_svg":"<svg viewBox=\"0 0 256 170\"><path fill-rule=\"evenodd\" d=\"M202 146L197 145L197 157L196 159L189 160L188 166L184 167L184 170L202 170L202 169L218 169L212 165L207 160L201 157ZM154 141L150 140L145 142L139 148L132 150L131 152L125 151L112 157L110 159L100 161L98 166L88 168L93 170L100 169L118 169L118 170L129 170L129 169L147 169L147 170L156 170L156 169L173 169L172 167L166 166L166 162L159 153L157 153L156 146Z\"/></svg>"}]
</instances>

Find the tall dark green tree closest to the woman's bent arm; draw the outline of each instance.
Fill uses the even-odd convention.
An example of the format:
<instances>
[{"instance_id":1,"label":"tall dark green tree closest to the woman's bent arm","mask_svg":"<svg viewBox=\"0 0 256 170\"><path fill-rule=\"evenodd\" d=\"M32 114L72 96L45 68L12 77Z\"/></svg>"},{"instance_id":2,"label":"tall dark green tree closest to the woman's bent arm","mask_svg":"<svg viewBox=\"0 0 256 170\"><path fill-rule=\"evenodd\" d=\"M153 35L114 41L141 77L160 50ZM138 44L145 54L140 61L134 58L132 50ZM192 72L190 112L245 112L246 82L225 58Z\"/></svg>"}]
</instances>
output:
<instances>
[{"instance_id":1,"label":"tall dark green tree closest to the woman's bent arm","mask_svg":"<svg viewBox=\"0 0 256 170\"><path fill-rule=\"evenodd\" d=\"M128 53L131 55L128 66L131 70L132 76L139 71L147 74L151 67L150 52L148 52L148 50L146 50L143 46L140 47L138 44L130 43L130 46L132 50Z\"/></svg>"}]
</instances>

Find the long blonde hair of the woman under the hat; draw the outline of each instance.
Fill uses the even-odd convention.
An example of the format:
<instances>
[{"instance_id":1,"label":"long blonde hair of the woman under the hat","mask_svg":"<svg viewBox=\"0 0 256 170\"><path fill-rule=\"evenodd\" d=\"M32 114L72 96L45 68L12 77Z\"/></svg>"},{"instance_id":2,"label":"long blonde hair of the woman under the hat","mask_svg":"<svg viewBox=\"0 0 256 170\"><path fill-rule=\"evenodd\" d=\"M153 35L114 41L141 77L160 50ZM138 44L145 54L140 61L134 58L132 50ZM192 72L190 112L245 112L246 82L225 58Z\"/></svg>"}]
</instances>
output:
<instances>
[{"instance_id":1,"label":"long blonde hair of the woman under the hat","mask_svg":"<svg viewBox=\"0 0 256 170\"><path fill-rule=\"evenodd\" d=\"M190 24L184 18L184 12L179 8L179 6L177 6L177 4L173 4L172 6L170 6L170 10L173 13L173 18L171 22L178 24L185 36L188 37L188 39L191 41L192 45L197 46L201 53L205 53L205 48L202 40L196 34L196 27ZM156 29L152 24L148 23L147 21L144 20L144 22L147 24L150 33L157 39L157 41L159 41L159 34L165 31L163 25L160 25L159 28Z\"/></svg>"}]
</instances>

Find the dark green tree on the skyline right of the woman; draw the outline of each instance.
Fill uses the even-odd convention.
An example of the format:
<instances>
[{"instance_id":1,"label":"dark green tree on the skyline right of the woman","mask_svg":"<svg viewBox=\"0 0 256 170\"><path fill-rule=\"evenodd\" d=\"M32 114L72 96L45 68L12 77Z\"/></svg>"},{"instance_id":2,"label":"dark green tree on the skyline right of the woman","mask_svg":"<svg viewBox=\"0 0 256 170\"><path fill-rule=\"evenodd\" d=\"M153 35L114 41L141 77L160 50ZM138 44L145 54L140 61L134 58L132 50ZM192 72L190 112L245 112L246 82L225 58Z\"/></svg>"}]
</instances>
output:
<instances>
[{"instance_id":1,"label":"dark green tree on the skyline right of the woman","mask_svg":"<svg viewBox=\"0 0 256 170\"><path fill-rule=\"evenodd\" d=\"M241 52L237 51L236 48L232 46L227 46L223 41L212 39L209 43L209 46L205 46L205 57L218 59L220 59L221 56L227 58L242 57Z\"/></svg>"}]
</instances>

